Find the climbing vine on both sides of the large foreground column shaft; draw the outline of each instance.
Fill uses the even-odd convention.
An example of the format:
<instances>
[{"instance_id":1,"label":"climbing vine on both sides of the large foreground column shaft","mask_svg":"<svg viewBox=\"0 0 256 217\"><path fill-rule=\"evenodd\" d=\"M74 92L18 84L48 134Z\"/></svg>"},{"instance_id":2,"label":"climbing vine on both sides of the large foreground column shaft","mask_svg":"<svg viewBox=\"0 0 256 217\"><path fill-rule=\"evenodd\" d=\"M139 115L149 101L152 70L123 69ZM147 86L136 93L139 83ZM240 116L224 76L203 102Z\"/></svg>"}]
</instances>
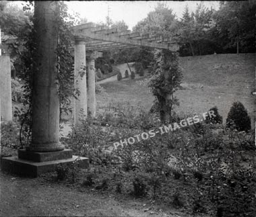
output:
<instances>
[{"instance_id":1,"label":"climbing vine on both sides of the large foreground column shaft","mask_svg":"<svg viewBox=\"0 0 256 217\"><path fill-rule=\"evenodd\" d=\"M24 6L24 11L30 11L34 7L34 3L29 1ZM67 5L60 1L58 3L59 13L59 42L57 46L57 70L59 80L59 99L60 99L60 114L69 110L71 103L70 97L75 95L73 89L73 56L69 51L71 46L71 32L69 27L77 24L77 15L67 13ZM34 22L34 17L31 18L31 23ZM34 25L28 25L27 31L21 34L21 40L24 41L24 50L20 53L20 58L15 61L15 67L20 71L20 79L24 81L24 100L22 101L24 108L15 110L14 116L18 116L21 122L20 128L20 143L22 146L30 142L31 134L31 117L32 117L32 77L34 73L34 56L36 50L36 36Z\"/></svg>"}]
</instances>

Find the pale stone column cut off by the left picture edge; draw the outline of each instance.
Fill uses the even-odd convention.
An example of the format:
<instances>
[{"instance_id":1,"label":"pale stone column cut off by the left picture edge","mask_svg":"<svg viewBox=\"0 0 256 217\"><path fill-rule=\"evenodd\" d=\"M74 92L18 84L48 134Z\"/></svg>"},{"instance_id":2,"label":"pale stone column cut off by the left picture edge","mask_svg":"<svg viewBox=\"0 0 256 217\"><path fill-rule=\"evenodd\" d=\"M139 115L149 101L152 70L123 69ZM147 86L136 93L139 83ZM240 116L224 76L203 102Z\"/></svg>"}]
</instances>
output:
<instances>
[{"instance_id":1,"label":"pale stone column cut off by the left picture edge","mask_svg":"<svg viewBox=\"0 0 256 217\"><path fill-rule=\"evenodd\" d=\"M0 56L1 120L12 120L11 108L11 65L9 56Z\"/></svg>"}]
</instances>

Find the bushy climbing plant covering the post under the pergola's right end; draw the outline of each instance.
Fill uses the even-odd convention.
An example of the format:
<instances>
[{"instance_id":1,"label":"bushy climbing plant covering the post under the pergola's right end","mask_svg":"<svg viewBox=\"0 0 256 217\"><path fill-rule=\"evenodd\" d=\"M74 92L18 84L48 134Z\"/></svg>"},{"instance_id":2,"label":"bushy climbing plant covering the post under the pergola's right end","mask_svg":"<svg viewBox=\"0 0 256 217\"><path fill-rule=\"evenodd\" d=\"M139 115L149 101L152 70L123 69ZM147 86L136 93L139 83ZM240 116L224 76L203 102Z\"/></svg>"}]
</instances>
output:
<instances>
[{"instance_id":1,"label":"bushy climbing plant covering the post under the pergola's right end","mask_svg":"<svg viewBox=\"0 0 256 217\"><path fill-rule=\"evenodd\" d=\"M174 93L179 89L183 79L177 52L156 50L152 74L149 87L156 97L155 104L160 112L160 120L170 122L174 105L179 105Z\"/></svg>"}]
</instances>

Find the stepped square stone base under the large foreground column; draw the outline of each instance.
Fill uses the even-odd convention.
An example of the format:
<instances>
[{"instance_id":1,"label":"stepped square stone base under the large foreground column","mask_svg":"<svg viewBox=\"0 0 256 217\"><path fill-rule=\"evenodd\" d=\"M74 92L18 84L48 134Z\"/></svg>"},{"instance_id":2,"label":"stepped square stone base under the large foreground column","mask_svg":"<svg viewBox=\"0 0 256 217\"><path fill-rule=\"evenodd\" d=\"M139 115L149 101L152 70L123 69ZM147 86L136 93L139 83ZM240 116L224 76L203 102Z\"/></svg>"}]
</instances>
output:
<instances>
[{"instance_id":1,"label":"stepped square stone base under the large foreground column","mask_svg":"<svg viewBox=\"0 0 256 217\"><path fill-rule=\"evenodd\" d=\"M79 161L79 167L89 167L89 159L72 155L71 149L54 153L32 153L19 150L18 157L3 157L1 159L1 170L20 176L38 177L43 173L55 171L60 163L69 165L76 160Z\"/></svg>"}]
</instances>

